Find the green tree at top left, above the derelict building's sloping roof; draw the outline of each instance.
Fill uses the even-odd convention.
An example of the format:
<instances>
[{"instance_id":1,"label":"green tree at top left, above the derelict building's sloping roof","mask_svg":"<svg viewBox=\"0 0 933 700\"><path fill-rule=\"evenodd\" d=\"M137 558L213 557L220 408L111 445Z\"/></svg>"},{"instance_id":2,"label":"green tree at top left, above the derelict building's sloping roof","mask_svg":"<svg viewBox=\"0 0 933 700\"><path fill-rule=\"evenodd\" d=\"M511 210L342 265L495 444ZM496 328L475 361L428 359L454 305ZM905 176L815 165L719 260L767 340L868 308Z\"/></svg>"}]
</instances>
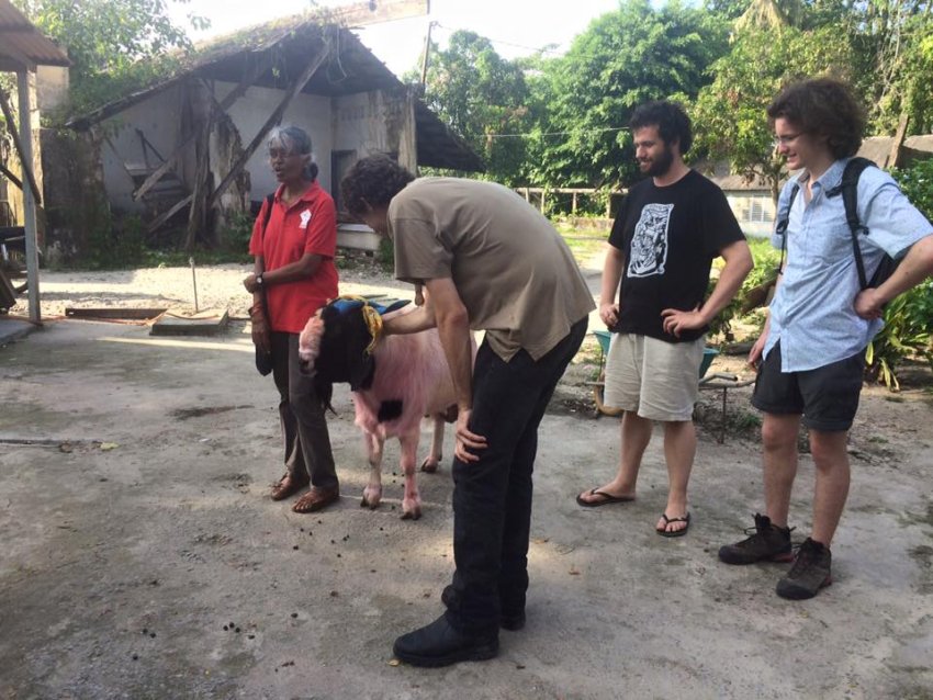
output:
<instances>
[{"instance_id":1,"label":"green tree at top left, above the derelict building's sloping roof","mask_svg":"<svg viewBox=\"0 0 933 700\"><path fill-rule=\"evenodd\" d=\"M71 59L71 108L81 112L117 97L128 87L166 70L173 48L190 49L186 27L168 14L170 3L188 0L14 0ZM189 15L194 27L207 21Z\"/></svg>"}]
</instances>

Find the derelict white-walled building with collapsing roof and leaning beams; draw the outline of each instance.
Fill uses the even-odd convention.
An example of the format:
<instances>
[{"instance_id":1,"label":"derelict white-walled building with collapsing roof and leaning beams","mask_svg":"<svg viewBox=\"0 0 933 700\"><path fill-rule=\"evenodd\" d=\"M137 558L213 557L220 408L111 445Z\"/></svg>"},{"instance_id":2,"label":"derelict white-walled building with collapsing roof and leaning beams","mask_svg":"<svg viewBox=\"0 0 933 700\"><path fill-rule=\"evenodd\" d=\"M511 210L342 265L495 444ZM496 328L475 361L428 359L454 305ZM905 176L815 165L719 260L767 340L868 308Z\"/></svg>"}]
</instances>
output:
<instances>
[{"instance_id":1,"label":"derelict white-walled building with collapsing roof and leaning beams","mask_svg":"<svg viewBox=\"0 0 933 700\"><path fill-rule=\"evenodd\" d=\"M106 199L147 234L187 227L187 244L216 242L233 212L276 187L270 129L304 128L319 181L337 200L344 172L372 153L412 169L483 169L480 158L349 30L292 18L218 39L148 89L72 118L94 135ZM187 224L186 224L187 219ZM342 244L355 234L346 217ZM366 244L363 244L366 245Z\"/></svg>"}]
</instances>

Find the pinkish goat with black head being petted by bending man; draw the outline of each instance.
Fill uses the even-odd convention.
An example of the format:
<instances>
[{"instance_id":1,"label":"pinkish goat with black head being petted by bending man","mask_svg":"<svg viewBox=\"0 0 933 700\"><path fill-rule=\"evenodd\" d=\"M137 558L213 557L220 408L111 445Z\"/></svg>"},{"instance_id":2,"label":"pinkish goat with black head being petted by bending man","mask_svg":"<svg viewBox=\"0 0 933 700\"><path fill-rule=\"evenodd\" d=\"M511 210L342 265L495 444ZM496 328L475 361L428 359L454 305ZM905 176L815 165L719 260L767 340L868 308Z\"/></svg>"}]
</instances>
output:
<instances>
[{"instance_id":1,"label":"pinkish goat with black head being petted by bending man","mask_svg":"<svg viewBox=\"0 0 933 700\"><path fill-rule=\"evenodd\" d=\"M389 308L386 318L405 313ZM339 298L313 316L301 334L300 354L314 373L317 395L329 404L333 384L348 382L353 392L356 425L364 433L370 464L362 506L382 499L382 453L387 438L398 438L405 475L402 518L421 517L415 478L420 421L434 419L430 453L421 471L436 472L441 460L443 424L456 419L453 382L437 330L379 338L376 308L362 300ZM376 341L373 342L373 336ZM473 355L476 348L473 346Z\"/></svg>"}]
</instances>

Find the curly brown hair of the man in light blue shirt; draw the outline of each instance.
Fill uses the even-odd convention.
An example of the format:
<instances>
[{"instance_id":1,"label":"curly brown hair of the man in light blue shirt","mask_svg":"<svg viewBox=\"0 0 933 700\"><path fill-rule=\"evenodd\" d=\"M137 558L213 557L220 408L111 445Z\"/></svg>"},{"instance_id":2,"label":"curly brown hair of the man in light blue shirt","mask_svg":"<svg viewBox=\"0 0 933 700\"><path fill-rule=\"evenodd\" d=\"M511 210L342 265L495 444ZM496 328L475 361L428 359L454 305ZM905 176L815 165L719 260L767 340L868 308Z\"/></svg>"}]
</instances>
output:
<instances>
[{"instance_id":1,"label":"curly brown hair of the man in light blue shirt","mask_svg":"<svg viewBox=\"0 0 933 700\"><path fill-rule=\"evenodd\" d=\"M824 136L833 158L858 153L865 131L865 112L851 88L833 78L794 82L767 109L768 124L785 118L807 134Z\"/></svg>"}]
</instances>

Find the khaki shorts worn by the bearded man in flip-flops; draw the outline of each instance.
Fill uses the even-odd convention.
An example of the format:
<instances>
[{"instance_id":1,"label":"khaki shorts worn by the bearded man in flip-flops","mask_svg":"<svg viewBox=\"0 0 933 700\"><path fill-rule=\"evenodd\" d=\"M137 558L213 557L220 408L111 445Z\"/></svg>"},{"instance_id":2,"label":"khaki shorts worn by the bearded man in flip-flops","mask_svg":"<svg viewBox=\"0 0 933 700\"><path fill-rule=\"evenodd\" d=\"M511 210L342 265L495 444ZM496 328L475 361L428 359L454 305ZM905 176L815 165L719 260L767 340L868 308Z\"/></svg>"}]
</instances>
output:
<instances>
[{"instance_id":1,"label":"khaki shorts worn by the bearded man in flip-flops","mask_svg":"<svg viewBox=\"0 0 933 700\"><path fill-rule=\"evenodd\" d=\"M650 420L690 420L705 346L706 338L665 342L615 334L606 358L603 403Z\"/></svg>"}]
</instances>

